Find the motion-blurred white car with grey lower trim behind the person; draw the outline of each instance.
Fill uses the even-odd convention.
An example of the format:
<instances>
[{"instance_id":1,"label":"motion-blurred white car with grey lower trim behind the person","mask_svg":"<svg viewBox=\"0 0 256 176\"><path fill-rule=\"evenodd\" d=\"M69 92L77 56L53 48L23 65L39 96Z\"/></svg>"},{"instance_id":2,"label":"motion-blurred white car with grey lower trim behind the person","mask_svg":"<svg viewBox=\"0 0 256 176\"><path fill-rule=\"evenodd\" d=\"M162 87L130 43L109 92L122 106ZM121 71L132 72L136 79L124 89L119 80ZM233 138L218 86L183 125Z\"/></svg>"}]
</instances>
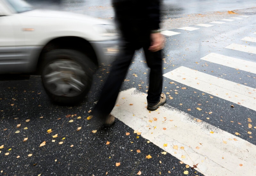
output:
<instances>
[{"instance_id":1,"label":"motion-blurred white car with grey lower trim behind the person","mask_svg":"<svg viewBox=\"0 0 256 176\"><path fill-rule=\"evenodd\" d=\"M33 9L23 0L0 0L0 74L41 75L55 102L83 99L95 68L113 58L117 46L110 21Z\"/></svg>"}]
</instances>

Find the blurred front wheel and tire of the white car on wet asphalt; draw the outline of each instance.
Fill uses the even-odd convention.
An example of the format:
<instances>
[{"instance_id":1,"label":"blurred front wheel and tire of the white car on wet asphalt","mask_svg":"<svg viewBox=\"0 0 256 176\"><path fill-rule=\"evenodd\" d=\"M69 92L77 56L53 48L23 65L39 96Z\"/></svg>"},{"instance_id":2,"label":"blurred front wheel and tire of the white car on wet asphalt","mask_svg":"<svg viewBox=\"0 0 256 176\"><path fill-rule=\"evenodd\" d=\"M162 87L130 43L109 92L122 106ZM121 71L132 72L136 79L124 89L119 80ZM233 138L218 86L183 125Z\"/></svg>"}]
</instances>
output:
<instances>
[{"instance_id":1,"label":"blurred front wheel and tire of the white car on wet asphalt","mask_svg":"<svg viewBox=\"0 0 256 176\"><path fill-rule=\"evenodd\" d=\"M92 86L92 61L71 49L52 50L43 59L42 82L50 99L67 105L83 100Z\"/></svg>"}]
</instances>

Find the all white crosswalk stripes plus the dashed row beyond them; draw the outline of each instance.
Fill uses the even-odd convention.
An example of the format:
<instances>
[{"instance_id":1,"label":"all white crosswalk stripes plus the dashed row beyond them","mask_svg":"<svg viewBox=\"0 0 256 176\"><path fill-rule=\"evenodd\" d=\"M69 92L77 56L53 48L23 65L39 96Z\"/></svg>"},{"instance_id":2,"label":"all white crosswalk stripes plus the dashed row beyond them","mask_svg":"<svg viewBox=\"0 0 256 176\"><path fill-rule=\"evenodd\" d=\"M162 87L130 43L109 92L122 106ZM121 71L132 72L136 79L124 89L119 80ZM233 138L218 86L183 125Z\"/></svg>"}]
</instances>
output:
<instances>
[{"instance_id":1,"label":"all white crosswalk stripes plus the dashed row beyond them","mask_svg":"<svg viewBox=\"0 0 256 176\"><path fill-rule=\"evenodd\" d=\"M209 22L225 24L234 20L248 18L238 16ZM226 22L222 22L226 21ZM209 24L196 26L211 27ZM180 30L194 31L200 28L182 27ZM182 32L163 31L163 35L180 35ZM242 38L250 45L231 43L225 47L231 51L256 54L256 32ZM226 53L209 53L200 58L207 62L256 74L256 62L246 58L230 57ZM225 80L188 67L178 67L163 75L165 78L195 88L240 106L256 111L256 88ZM256 79L253 77L253 79ZM117 106L111 112L119 120L141 136L153 142L180 161L195 168L205 176L241 176L256 173L256 145L239 138L237 135L221 130L216 126L197 120L195 117L164 105L154 112L146 109L146 94L136 88L119 94Z\"/></svg>"}]
</instances>

